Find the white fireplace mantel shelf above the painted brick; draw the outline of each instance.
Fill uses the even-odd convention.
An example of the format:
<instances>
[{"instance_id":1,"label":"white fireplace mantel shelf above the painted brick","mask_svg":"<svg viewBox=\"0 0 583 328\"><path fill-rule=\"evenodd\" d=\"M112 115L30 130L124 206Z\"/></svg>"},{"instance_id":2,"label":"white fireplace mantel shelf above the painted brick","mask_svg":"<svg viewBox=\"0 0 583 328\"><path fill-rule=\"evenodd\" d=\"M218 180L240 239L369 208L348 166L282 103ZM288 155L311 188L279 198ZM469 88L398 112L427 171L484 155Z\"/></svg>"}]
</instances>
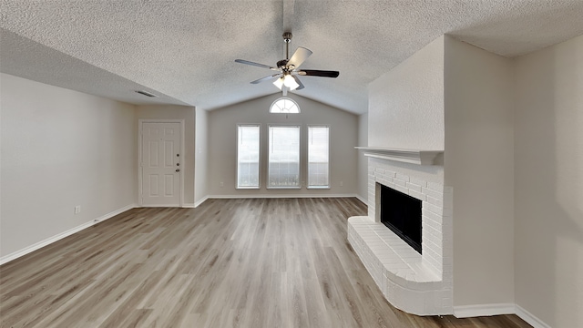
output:
<instances>
[{"instance_id":1,"label":"white fireplace mantel shelf above the painted brick","mask_svg":"<svg viewBox=\"0 0 583 328\"><path fill-rule=\"evenodd\" d=\"M385 149L376 147L354 147L364 151L364 156L374 159L397 160L418 165L441 165L439 158L443 150L417 150L417 149Z\"/></svg>"}]
</instances>

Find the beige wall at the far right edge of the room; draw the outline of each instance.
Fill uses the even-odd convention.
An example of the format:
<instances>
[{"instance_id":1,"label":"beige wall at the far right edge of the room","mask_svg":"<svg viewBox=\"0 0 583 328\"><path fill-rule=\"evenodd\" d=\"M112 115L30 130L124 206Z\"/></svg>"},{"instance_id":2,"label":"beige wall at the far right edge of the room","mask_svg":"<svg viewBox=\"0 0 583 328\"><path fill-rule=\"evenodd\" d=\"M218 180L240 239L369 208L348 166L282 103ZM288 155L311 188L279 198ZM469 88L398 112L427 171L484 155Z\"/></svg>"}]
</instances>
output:
<instances>
[{"instance_id":1,"label":"beige wall at the far right edge of the room","mask_svg":"<svg viewBox=\"0 0 583 328\"><path fill-rule=\"evenodd\" d=\"M517 303L583 327L583 36L516 67Z\"/></svg>"}]
</instances>

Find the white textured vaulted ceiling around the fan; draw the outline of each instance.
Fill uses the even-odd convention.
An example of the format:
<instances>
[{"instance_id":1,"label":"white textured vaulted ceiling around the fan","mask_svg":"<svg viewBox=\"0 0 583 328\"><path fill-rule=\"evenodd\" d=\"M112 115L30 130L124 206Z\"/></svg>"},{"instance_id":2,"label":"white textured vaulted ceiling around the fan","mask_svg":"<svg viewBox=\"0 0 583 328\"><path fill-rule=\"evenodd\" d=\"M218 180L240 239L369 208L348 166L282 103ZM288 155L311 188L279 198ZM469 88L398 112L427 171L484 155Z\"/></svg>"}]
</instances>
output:
<instances>
[{"instance_id":1,"label":"white textured vaulted ceiling around the fan","mask_svg":"<svg viewBox=\"0 0 583 328\"><path fill-rule=\"evenodd\" d=\"M136 104L214 109L278 91L249 82L291 52L313 51L303 97L353 113L367 85L436 37L502 56L583 35L583 0L2 0L0 71ZM284 9L285 8L285 9ZM285 18L283 13L286 13ZM155 94L148 98L134 91Z\"/></svg>"}]
</instances>

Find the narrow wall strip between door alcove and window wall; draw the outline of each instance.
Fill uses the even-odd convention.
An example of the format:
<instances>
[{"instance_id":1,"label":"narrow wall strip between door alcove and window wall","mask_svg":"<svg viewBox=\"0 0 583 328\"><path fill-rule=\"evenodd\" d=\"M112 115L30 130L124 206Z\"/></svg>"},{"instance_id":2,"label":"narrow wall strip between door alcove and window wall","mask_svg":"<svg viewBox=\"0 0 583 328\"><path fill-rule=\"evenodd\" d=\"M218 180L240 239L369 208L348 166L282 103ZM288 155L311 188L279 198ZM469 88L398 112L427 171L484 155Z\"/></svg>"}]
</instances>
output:
<instances>
[{"instance_id":1,"label":"narrow wall strip between door alcove and window wall","mask_svg":"<svg viewBox=\"0 0 583 328\"><path fill-rule=\"evenodd\" d=\"M194 165L194 203L198 205L209 195L209 113L206 110L196 110L196 138L195 138L195 165Z\"/></svg>"}]
</instances>

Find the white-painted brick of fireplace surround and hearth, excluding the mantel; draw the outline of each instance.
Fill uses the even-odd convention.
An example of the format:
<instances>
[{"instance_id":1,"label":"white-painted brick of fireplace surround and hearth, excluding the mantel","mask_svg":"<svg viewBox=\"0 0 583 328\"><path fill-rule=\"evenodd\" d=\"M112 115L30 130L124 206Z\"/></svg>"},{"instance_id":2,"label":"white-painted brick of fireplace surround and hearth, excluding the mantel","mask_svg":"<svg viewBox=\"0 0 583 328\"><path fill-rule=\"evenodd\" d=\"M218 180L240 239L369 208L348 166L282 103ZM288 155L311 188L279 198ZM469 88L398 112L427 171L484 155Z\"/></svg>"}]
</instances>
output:
<instances>
[{"instance_id":1,"label":"white-painted brick of fireplace surround and hearth, excluding the mantel","mask_svg":"<svg viewBox=\"0 0 583 328\"><path fill-rule=\"evenodd\" d=\"M421 261L419 261L420 255L406 245L411 253L401 250L400 246L387 250L382 244L379 244L379 240L393 242L398 238L391 231L389 231L391 232L390 234L385 233L384 231L388 231L388 229L380 223L373 223L368 228L359 225L356 228L358 231L353 230L354 234L363 232L363 235L369 236L365 238L366 240L374 237L373 240L370 240L370 245L367 245L367 241L357 237L349 237L349 241L353 245L354 251L363 261L366 270L371 273L373 280L377 283L389 302L394 303L397 307L404 306L410 308L410 311L421 312L422 314L452 313L453 272L451 270L450 272L442 271L444 270L443 266L445 263L450 265L450 268L452 263L451 220L453 213L453 189L441 183L427 182L424 179L395 172L392 168L397 167L394 167L391 163L391 161L382 159L369 159L369 173L371 173L369 174L368 181L369 200L371 200L371 204L368 207L369 217L376 220L374 218L374 201L376 199L375 182L377 181L389 188L399 190L419 200L423 200L424 254L421 255ZM411 165L411 167L415 168L414 165ZM376 236L370 237L370 233L365 231L373 231ZM401 245L401 243L403 241L400 241L398 245ZM364 250L357 250L357 248ZM392 251L399 252L398 256L404 259L404 261L411 261L408 264L410 269L407 269L409 270L409 276L406 276L405 273L404 277L399 277L396 275L396 272L387 272L388 269L383 265L383 262L401 261L387 258ZM410 258L409 256L413 257ZM411 268L415 270L414 272L420 272L419 265L439 272L439 276L443 274L443 281L425 282L425 276L422 273L418 273L419 275L411 275ZM435 277L435 273L433 273L433 277ZM408 278L409 282L405 278ZM449 308L444 308L443 302L448 302L445 305L449 306Z\"/></svg>"}]
</instances>

